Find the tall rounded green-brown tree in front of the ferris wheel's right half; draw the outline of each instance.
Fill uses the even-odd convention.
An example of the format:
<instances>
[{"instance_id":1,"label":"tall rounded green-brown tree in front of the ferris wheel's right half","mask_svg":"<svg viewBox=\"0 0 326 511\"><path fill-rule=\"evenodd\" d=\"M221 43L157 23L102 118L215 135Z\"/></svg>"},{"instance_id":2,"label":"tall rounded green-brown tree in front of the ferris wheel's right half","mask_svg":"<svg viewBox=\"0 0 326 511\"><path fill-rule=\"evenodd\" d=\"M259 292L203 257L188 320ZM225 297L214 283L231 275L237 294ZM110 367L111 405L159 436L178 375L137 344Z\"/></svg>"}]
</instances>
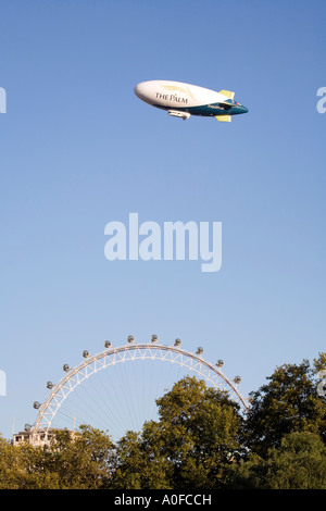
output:
<instances>
[{"instance_id":1,"label":"tall rounded green-brown tree in front of the ferris wheel's right half","mask_svg":"<svg viewBox=\"0 0 326 511\"><path fill-rule=\"evenodd\" d=\"M238 407L204 382L186 377L156 401L159 421L117 445L113 487L215 488L239 453Z\"/></svg>"}]
</instances>

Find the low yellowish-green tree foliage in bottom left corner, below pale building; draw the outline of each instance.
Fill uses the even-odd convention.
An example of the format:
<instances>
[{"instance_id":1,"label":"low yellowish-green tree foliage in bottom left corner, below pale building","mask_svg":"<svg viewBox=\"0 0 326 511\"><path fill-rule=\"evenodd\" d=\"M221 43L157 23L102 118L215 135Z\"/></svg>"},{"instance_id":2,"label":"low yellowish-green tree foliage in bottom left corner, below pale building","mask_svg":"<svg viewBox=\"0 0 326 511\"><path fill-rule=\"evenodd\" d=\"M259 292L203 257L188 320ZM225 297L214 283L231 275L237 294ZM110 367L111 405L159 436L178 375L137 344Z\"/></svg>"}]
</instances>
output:
<instances>
[{"instance_id":1,"label":"low yellowish-green tree foliage in bottom left corner, below pale building","mask_svg":"<svg viewBox=\"0 0 326 511\"><path fill-rule=\"evenodd\" d=\"M58 431L52 445L45 447L16 447L0 439L0 488L105 488L113 459L110 437L89 426L82 426L75 436Z\"/></svg>"}]
</instances>

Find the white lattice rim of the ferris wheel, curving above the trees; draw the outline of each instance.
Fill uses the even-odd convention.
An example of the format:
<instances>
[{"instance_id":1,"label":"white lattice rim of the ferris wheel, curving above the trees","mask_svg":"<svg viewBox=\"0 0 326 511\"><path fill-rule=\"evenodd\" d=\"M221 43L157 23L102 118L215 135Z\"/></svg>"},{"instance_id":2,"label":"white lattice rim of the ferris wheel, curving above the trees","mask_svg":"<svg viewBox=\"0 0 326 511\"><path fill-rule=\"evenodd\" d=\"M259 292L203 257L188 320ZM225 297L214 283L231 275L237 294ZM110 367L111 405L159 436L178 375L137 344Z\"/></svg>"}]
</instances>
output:
<instances>
[{"instance_id":1,"label":"white lattice rim of the ferris wheel, curving above the trees","mask_svg":"<svg viewBox=\"0 0 326 511\"><path fill-rule=\"evenodd\" d=\"M190 364L190 366L188 366L185 362L183 362L183 359L177 360L177 359L168 359L168 358L163 358L163 357L155 358L155 357L152 357L152 356L149 357L149 356L143 354L142 357L135 356L134 358L129 358L129 359L121 357L121 358L117 358L117 360L114 360L113 362L110 362L109 364L102 364L102 366L92 369L92 371L89 374L87 373L88 367L90 367L92 364L96 365L97 362L100 362L102 359L109 359L112 356L120 356L121 353L130 353L130 352L134 352L134 351L143 352L143 351L148 351L148 350L154 350L154 351L158 351L158 352L168 352L168 353L173 353L175 356L179 356L181 358L184 357L184 358L186 358L187 361L188 360L195 361L199 365L200 369L198 369L198 366L192 366L191 364ZM185 349L181 349L179 346L176 346L176 345L174 345L174 346L162 345L162 344L159 344L156 341L143 342L143 344L136 344L134 341L128 341L127 345L123 345L123 346L120 346L117 348L113 348L113 347L110 348L110 349L105 348L103 351L101 351L101 352L99 352L95 356L90 356L88 352L86 352L86 353L87 354L84 354L85 360L82 363L79 363L78 365L76 365L73 369L68 367L67 370L65 370L66 375L63 376L57 385L53 385L47 400L42 404L39 404L38 417L37 417L35 424L33 426L30 426L33 432L49 431L51 428L51 424L52 424L52 421L55 416L55 413L59 410L59 408L61 407L62 402L86 378L88 378L91 375L98 373L98 371L100 371L100 370L103 370L103 369L105 370L110 365L113 365L113 364L120 363L120 362L124 362L126 360L134 361L134 360L140 360L140 359L141 360L152 359L152 360L161 360L162 362L167 361L167 362L171 362L171 363L177 363L179 365L185 365L185 366L188 366L188 369L190 369L191 371L195 371L197 374L201 375L204 379L210 381L211 383L213 383L213 386L216 387L218 390L221 390L220 386L217 384L214 384L212 378L210 378L201 370L201 366L204 366L206 370L212 371L215 375L217 375L218 378L222 378L222 381L225 383L225 385L228 386L229 389L231 389L231 391L233 391L231 396L234 396L234 395L237 396L236 399L233 399L233 397L230 397L231 400L238 401L240 403L240 407L242 406L244 408L244 410L248 410L248 408L249 408L246 398L237 389L237 384L234 381L229 379L221 371L221 369L217 367L217 364L212 364L212 363L208 362L206 360L204 360L201 357L201 354L199 354L198 352L193 353L193 352L187 351ZM85 374L82 373L84 370L86 370ZM82 378L79 378L79 374L83 375ZM75 376L76 376L76 379L73 381L73 378ZM71 384L72 381L73 381L73 385ZM65 385L67 385L67 388L65 387ZM229 389L227 391L229 391ZM61 395L60 395L60 392L61 392ZM53 401L53 403L52 403L52 401ZM51 409L51 403L52 403L52 409ZM43 421L43 419L46 419L46 420Z\"/></svg>"}]
</instances>

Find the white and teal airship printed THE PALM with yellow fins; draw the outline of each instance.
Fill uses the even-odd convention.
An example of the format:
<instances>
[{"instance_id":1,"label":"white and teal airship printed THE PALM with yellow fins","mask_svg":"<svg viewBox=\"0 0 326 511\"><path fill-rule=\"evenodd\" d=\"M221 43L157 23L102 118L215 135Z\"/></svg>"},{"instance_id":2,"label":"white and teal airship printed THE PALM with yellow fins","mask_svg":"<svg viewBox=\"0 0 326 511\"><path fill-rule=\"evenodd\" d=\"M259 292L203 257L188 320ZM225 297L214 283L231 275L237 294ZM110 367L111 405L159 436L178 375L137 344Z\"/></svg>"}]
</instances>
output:
<instances>
[{"instance_id":1,"label":"white and teal airship printed THE PALM with yellow fins","mask_svg":"<svg viewBox=\"0 0 326 511\"><path fill-rule=\"evenodd\" d=\"M215 90L184 84L183 82L149 80L141 82L134 89L136 96L174 117L184 121L190 115L216 117L221 122L230 122L234 115L247 113L243 104L235 101L235 92Z\"/></svg>"}]
</instances>

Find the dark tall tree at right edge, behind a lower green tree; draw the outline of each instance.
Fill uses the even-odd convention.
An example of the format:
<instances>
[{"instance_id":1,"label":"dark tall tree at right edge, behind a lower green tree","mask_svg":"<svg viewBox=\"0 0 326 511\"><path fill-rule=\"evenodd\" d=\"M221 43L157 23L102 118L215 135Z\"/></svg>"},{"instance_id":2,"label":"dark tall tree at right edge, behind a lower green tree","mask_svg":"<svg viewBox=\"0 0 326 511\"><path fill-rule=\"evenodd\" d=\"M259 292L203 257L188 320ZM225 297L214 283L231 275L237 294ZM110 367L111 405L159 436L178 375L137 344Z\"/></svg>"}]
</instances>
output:
<instances>
[{"instance_id":1,"label":"dark tall tree at right edge, behind a lower green tree","mask_svg":"<svg viewBox=\"0 0 326 511\"><path fill-rule=\"evenodd\" d=\"M243 427L243 441L250 450L264 457L291 432L311 432L323 437L326 404L317 395L315 373L308 361L285 364L267 378L268 384L251 394Z\"/></svg>"}]
</instances>

